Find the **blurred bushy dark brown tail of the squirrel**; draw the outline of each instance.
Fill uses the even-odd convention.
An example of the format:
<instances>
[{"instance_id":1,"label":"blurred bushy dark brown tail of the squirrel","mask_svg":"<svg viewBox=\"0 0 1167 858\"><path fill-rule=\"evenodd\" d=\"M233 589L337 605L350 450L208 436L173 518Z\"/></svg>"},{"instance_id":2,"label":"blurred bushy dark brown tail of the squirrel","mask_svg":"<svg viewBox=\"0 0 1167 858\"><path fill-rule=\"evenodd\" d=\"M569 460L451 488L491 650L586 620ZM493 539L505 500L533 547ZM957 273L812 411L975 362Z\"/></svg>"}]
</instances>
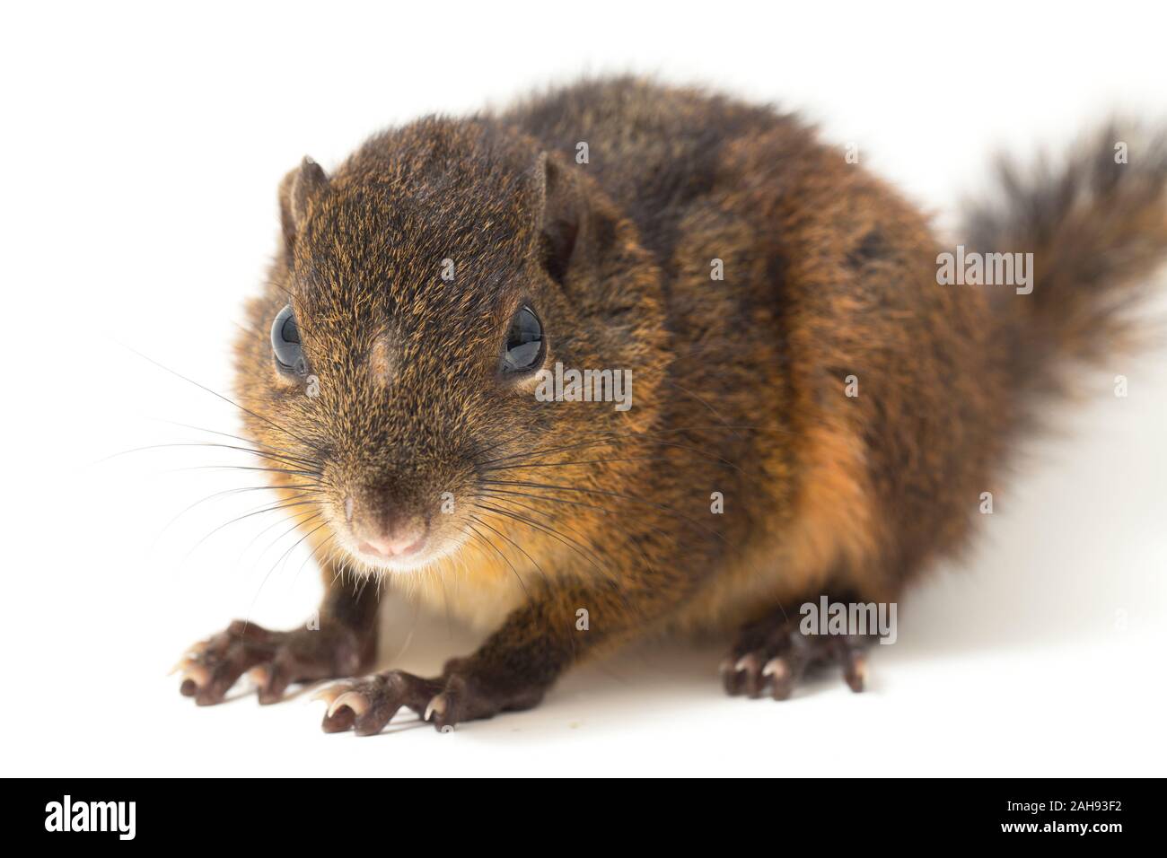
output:
<instances>
[{"instance_id":1,"label":"blurred bushy dark brown tail of the squirrel","mask_svg":"<svg viewBox=\"0 0 1167 858\"><path fill-rule=\"evenodd\" d=\"M1033 253L1033 292L994 293L998 354L1027 386L1061 391L1068 364L1153 330L1131 309L1167 263L1167 133L1112 124L1061 168L1002 160L998 174L1001 193L970 211L966 240Z\"/></svg>"}]
</instances>

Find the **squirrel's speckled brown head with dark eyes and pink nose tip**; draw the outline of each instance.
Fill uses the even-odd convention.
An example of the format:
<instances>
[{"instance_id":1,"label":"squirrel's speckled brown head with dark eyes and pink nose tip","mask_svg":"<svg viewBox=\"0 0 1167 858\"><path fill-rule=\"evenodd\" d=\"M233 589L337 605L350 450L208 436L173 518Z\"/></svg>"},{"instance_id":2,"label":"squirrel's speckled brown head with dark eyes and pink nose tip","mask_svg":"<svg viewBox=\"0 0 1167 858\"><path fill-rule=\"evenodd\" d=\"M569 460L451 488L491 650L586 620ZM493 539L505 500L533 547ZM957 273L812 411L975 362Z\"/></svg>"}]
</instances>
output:
<instances>
[{"instance_id":1,"label":"squirrel's speckled brown head with dark eyes and pink nose tip","mask_svg":"<svg viewBox=\"0 0 1167 858\"><path fill-rule=\"evenodd\" d=\"M659 272L588 169L489 119L431 118L280 184L237 395L275 483L350 567L427 566L491 530L529 540L522 517L581 511L531 483L622 490L640 467L627 451L669 363ZM609 391L630 371L631 407L567 400L557 365L568 386L608 371Z\"/></svg>"}]
</instances>

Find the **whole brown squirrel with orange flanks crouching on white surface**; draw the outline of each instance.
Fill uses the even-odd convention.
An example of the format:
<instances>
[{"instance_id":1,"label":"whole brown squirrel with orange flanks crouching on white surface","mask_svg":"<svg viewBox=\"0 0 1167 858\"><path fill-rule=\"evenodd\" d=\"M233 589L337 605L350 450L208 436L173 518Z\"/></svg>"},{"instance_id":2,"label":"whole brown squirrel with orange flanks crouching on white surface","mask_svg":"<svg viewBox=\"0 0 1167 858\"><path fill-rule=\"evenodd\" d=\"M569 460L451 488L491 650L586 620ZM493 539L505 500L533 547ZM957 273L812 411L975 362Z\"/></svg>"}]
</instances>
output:
<instances>
[{"instance_id":1,"label":"whole brown squirrel with orange flanks crouching on white surface","mask_svg":"<svg viewBox=\"0 0 1167 858\"><path fill-rule=\"evenodd\" d=\"M1002 162L959 250L1032 254L1028 288L946 282L900 193L796 114L697 88L584 81L385 131L331 174L305 159L235 392L320 561L319 627L236 621L182 693L341 679L327 732L401 709L449 730L693 634L731 642L732 695L824 667L861 690L871 632L806 634L798 606L894 604L969 542L1072 368L1139 339L1167 139L1135 133ZM492 632L440 676L366 675L382 586Z\"/></svg>"}]
</instances>

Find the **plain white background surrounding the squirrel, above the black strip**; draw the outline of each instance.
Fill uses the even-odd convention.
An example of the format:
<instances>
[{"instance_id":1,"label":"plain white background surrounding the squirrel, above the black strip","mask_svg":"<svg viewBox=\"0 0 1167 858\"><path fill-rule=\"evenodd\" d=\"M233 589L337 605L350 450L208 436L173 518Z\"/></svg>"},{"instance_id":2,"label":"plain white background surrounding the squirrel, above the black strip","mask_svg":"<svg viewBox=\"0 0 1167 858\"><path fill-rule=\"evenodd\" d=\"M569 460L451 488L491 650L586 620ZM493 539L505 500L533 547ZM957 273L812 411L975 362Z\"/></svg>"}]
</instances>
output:
<instances>
[{"instance_id":1,"label":"plain white background surrounding the squirrel, above the black strip","mask_svg":"<svg viewBox=\"0 0 1167 858\"><path fill-rule=\"evenodd\" d=\"M424 112L581 72L780 102L953 223L988 155L1061 148L1116 110L1162 117L1158 4L160 4L9 7L0 27L5 774L1163 774L1167 351L1116 362L1030 444L970 554L900 609L871 689L722 696L720 651L640 649L532 712L453 734L324 735L322 704L197 709L166 671L249 615L315 604L261 502L211 448L228 344L275 249L275 187ZM1160 305L1162 306L1162 305ZM1130 396L1112 378L1130 378ZM261 532L263 528L270 528ZM252 542L254 540L254 542ZM265 546L268 550L264 551ZM391 618L386 658L466 644ZM405 643L407 633L414 630ZM456 639L456 640L455 640ZM412 718L412 716L411 716Z\"/></svg>"}]
</instances>

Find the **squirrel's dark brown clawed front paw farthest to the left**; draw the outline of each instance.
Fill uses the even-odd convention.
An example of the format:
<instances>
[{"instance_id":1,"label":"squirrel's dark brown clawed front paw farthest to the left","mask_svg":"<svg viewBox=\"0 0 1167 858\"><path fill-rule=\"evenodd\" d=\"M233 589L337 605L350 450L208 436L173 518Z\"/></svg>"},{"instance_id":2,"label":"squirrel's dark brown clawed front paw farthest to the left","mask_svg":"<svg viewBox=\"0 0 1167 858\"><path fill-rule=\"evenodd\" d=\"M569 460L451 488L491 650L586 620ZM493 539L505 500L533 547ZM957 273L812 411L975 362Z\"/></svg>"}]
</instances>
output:
<instances>
[{"instance_id":1,"label":"squirrel's dark brown clawed front paw farthest to the left","mask_svg":"<svg viewBox=\"0 0 1167 858\"><path fill-rule=\"evenodd\" d=\"M200 706L222 703L245 671L259 686L259 702L278 703L293 682L350 676L361 670L369 647L336 623L292 632L268 632L236 620L226 630L191 647L172 672L182 671L180 691Z\"/></svg>"}]
</instances>

